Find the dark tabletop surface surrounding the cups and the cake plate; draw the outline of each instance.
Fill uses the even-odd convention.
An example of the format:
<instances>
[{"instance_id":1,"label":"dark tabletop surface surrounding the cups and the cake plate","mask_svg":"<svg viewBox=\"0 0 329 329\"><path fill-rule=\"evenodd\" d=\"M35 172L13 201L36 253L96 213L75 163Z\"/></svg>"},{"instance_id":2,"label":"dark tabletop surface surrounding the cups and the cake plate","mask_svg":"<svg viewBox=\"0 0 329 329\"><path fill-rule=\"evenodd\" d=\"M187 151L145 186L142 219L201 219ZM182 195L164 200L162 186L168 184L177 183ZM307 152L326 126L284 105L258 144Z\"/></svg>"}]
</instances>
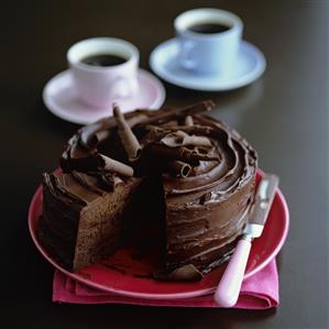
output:
<instances>
[{"instance_id":1,"label":"dark tabletop surface surrounding the cups and the cake plate","mask_svg":"<svg viewBox=\"0 0 329 329\"><path fill-rule=\"evenodd\" d=\"M220 3L219 3L220 2ZM9 4L10 3L10 4ZM328 10L327 1L7 1L1 3L2 328L327 328ZM278 256L281 305L263 311L53 304L53 268L28 231L41 173L56 166L77 125L52 116L42 89L66 68L65 53L91 36L134 43L149 69L153 47L174 35L177 13L231 10L244 39L265 54L265 75L230 92L165 84L166 105L211 98L211 113L238 129L281 177L290 230ZM4 325L4 326L3 326Z\"/></svg>"}]
</instances>

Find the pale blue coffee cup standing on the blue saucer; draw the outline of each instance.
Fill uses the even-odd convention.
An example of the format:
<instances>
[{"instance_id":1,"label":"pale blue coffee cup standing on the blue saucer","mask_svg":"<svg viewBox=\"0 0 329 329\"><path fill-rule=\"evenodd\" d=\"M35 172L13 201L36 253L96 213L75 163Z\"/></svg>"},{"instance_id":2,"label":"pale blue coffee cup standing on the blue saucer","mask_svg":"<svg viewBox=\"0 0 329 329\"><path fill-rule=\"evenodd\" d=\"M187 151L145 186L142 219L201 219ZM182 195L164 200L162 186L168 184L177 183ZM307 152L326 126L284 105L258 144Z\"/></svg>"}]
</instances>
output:
<instances>
[{"instance_id":1,"label":"pale blue coffee cup standing on the blue saucer","mask_svg":"<svg viewBox=\"0 0 329 329\"><path fill-rule=\"evenodd\" d=\"M189 30L207 23L218 23L229 29L209 34ZM239 17L220 9L193 9L179 14L174 26L179 43L178 58L184 68L220 75L232 70L242 40L243 23Z\"/></svg>"}]
</instances>

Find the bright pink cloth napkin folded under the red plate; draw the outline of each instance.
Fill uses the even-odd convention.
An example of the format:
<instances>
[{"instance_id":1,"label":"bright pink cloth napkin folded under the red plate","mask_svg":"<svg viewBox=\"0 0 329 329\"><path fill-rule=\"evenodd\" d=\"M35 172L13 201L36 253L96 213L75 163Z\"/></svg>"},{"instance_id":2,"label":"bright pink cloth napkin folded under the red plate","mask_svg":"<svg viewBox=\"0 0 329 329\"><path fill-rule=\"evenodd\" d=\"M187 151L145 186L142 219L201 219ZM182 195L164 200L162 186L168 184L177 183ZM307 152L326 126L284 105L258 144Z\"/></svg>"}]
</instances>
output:
<instances>
[{"instance_id":1,"label":"bright pink cloth napkin folded under the red plate","mask_svg":"<svg viewBox=\"0 0 329 329\"><path fill-rule=\"evenodd\" d=\"M212 295L183 299L142 299L95 289L55 270L53 301L74 304L134 304L144 306L219 307ZM245 279L234 308L266 309L278 306L278 278L275 260Z\"/></svg>"}]
</instances>

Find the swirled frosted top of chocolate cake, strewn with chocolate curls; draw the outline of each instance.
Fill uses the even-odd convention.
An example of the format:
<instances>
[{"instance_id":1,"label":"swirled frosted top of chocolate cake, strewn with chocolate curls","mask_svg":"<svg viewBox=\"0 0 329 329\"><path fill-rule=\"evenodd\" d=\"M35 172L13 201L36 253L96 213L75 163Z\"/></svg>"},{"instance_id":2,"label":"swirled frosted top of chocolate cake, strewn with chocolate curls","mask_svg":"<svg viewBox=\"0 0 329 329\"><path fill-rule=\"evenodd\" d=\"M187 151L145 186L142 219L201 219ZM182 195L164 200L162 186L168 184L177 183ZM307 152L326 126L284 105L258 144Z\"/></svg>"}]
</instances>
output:
<instances>
[{"instance_id":1,"label":"swirled frosted top of chocolate cake, strewn with chocolate curls","mask_svg":"<svg viewBox=\"0 0 329 329\"><path fill-rule=\"evenodd\" d=\"M200 114L212 107L207 100L123 116L114 106L113 117L83 127L68 141L61 167L107 191L130 177L156 173L173 204L175 195L179 202L182 195L187 202L227 198L254 176L257 156L233 129Z\"/></svg>"}]
</instances>

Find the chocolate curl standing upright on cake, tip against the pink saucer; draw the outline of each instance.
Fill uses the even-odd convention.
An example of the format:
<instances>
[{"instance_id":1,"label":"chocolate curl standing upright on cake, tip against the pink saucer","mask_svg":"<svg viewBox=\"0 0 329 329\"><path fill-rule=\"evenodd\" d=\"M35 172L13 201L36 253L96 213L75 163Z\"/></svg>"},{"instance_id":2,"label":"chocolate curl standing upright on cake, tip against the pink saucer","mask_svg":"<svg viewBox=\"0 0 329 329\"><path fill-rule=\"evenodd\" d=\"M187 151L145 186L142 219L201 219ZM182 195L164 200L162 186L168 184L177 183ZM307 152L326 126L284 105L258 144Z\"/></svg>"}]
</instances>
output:
<instances>
[{"instance_id":1,"label":"chocolate curl standing upright on cake, tip against the pink saucer","mask_svg":"<svg viewBox=\"0 0 329 329\"><path fill-rule=\"evenodd\" d=\"M118 133L128 154L128 158L129 161L134 161L141 155L141 144L125 121L120 108L116 103L113 105L113 116L117 121Z\"/></svg>"}]
</instances>

